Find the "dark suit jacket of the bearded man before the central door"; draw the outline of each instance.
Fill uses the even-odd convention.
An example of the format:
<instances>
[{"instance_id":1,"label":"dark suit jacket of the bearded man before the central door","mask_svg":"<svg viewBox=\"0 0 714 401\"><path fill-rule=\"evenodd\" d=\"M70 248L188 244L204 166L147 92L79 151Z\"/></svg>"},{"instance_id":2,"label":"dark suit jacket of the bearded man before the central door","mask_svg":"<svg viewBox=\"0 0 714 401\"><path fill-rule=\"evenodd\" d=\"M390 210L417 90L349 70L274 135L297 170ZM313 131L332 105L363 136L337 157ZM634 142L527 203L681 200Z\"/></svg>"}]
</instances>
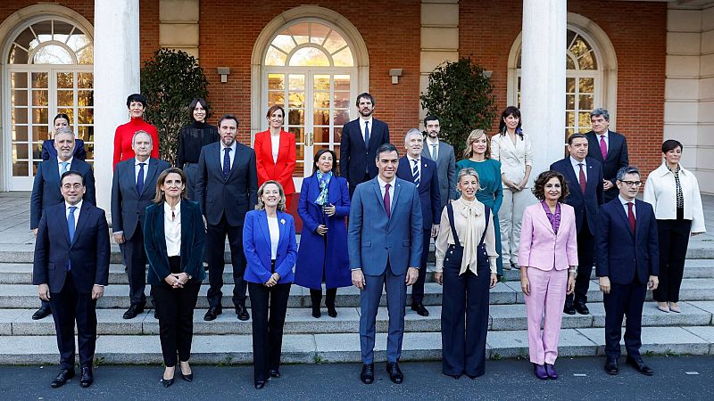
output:
<instances>
[{"instance_id":1,"label":"dark suit jacket of the bearded man before the central door","mask_svg":"<svg viewBox=\"0 0 714 401\"><path fill-rule=\"evenodd\" d=\"M364 143L360 124L364 124L362 119L353 119L342 127L340 173L347 178L350 186L361 184L368 168L369 177L377 176L378 169L375 163L377 149L382 144L389 143L389 127L385 122L372 118L372 127L369 127L369 146Z\"/></svg>"}]
</instances>

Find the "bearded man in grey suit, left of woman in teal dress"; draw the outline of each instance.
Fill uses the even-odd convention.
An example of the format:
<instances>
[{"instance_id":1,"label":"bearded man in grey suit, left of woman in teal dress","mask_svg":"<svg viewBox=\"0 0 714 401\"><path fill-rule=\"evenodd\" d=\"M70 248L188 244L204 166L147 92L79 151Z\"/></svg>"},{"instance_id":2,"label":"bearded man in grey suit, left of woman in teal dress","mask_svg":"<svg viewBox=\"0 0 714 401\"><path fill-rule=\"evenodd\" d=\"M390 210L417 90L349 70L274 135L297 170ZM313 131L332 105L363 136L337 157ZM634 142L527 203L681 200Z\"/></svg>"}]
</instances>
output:
<instances>
[{"instance_id":1,"label":"bearded man in grey suit, left of woman in teal dress","mask_svg":"<svg viewBox=\"0 0 714 401\"><path fill-rule=\"evenodd\" d=\"M424 119L424 128L427 130L427 142L421 156L436 161L436 176L439 177L439 199L441 211L446 203L456 199L456 156L453 146L439 140L439 118L427 116Z\"/></svg>"}]
</instances>

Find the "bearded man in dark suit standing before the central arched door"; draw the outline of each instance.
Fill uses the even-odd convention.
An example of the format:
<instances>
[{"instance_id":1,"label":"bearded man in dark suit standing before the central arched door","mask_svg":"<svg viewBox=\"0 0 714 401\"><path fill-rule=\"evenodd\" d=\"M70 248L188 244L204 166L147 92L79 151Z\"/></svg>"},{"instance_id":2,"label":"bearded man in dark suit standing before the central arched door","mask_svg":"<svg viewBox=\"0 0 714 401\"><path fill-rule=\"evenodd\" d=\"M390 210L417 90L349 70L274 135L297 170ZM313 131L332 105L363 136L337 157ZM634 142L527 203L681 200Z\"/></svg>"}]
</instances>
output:
<instances>
[{"instance_id":1,"label":"bearded man in dark suit standing before the central arched door","mask_svg":"<svg viewBox=\"0 0 714 401\"><path fill-rule=\"evenodd\" d=\"M389 143L389 127L385 122L372 117L374 105L371 94L357 96L360 118L342 127L340 171L350 184L350 196L357 184L377 176L377 167L372 160L376 159L379 146Z\"/></svg>"}]
</instances>

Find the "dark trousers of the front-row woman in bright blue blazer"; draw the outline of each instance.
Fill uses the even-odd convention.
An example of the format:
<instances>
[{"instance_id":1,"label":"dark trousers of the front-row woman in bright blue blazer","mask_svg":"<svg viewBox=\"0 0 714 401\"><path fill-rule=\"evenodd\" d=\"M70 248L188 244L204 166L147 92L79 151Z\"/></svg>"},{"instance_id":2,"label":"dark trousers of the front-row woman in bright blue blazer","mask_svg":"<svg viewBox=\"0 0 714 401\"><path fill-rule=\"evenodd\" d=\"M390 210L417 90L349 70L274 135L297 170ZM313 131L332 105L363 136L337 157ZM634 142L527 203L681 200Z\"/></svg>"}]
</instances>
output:
<instances>
[{"instance_id":1,"label":"dark trousers of the front-row woman in bright blue blazer","mask_svg":"<svg viewBox=\"0 0 714 401\"><path fill-rule=\"evenodd\" d=\"M291 282L266 287L248 282L253 311L253 378L266 381L269 369L280 369L283 326Z\"/></svg>"}]
</instances>

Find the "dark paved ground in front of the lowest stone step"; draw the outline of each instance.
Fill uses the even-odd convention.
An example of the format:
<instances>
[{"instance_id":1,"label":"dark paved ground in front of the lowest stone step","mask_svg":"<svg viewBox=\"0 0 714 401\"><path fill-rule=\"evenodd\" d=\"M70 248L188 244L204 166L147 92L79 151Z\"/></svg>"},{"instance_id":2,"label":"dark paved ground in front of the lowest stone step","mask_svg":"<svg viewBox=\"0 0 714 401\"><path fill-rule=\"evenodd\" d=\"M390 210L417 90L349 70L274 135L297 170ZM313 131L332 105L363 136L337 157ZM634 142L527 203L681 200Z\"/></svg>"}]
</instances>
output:
<instances>
[{"instance_id":1,"label":"dark paved ground in front of the lowest stone step","mask_svg":"<svg viewBox=\"0 0 714 401\"><path fill-rule=\"evenodd\" d=\"M405 381L394 385L383 364L377 380L359 381L359 364L293 364L283 366L283 377L265 389L253 389L252 366L195 365L195 381L177 381L163 389L159 366L100 366L95 384L79 388L76 379L62 389L51 389L56 366L0 367L0 394L4 399L714 399L714 359L711 356L645 357L653 377L620 366L617 377L602 371L603 358L567 358L558 361L558 381L539 381L524 360L486 362L486 375L455 381L441 374L440 363L402 364ZM620 360L624 364L624 358ZM534 397L535 396L535 397Z\"/></svg>"}]
</instances>

